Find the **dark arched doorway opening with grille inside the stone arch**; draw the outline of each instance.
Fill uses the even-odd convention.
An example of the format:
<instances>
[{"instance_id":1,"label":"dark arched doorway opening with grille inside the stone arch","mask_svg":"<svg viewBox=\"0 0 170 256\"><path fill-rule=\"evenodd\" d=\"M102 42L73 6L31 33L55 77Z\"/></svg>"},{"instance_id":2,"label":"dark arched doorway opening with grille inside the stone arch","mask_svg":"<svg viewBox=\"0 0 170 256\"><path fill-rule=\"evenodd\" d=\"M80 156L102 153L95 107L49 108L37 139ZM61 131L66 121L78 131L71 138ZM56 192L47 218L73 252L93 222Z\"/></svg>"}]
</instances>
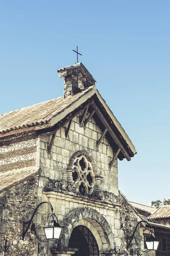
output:
<instances>
[{"instance_id":1,"label":"dark arched doorway opening with grille inside the stone arch","mask_svg":"<svg viewBox=\"0 0 170 256\"><path fill-rule=\"evenodd\" d=\"M74 228L68 247L79 249L74 256L99 256L99 248L96 239L85 226L77 226Z\"/></svg>"}]
</instances>

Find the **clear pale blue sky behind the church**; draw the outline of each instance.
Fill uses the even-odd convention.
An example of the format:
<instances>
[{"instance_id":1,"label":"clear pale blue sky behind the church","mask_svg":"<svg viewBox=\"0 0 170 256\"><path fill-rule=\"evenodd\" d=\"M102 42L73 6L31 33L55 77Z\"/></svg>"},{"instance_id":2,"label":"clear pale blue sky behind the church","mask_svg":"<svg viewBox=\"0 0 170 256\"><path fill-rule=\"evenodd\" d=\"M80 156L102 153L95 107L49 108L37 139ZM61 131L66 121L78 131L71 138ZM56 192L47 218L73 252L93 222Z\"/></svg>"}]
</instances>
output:
<instances>
[{"instance_id":1,"label":"clear pale blue sky behind the church","mask_svg":"<svg viewBox=\"0 0 170 256\"><path fill-rule=\"evenodd\" d=\"M0 1L0 113L61 96L77 45L138 152L119 162L119 189L170 198L170 1Z\"/></svg>"}]
</instances>

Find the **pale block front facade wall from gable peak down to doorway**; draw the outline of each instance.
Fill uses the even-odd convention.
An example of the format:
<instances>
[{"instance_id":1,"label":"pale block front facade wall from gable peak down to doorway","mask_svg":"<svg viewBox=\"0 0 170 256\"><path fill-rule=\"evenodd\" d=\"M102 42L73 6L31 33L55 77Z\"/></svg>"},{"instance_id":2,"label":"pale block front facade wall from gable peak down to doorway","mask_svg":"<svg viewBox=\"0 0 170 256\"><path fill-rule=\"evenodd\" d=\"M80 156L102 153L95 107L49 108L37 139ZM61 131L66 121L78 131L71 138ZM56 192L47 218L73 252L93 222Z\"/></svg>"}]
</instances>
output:
<instances>
[{"instance_id":1,"label":"pale block front facade wall from gable peak down to doorway","mask_svg":"<svg viewBox=\"0 0 170 256\"><path fill-rule=\"evenodd\" d=\"M111 169L109 169L109 163L113 158L113 151L108 141L104 138L99 148L96 148L96 142L99 140L102 131L96 125L93 118L88 122L86 128L80 127L79 120L80 116L76 116L72 120L68 138L65 138L68 124L57 131L50 154L48 154L48 145L51 137L49 138L46 134L40 135L38 201L50 201L55 208L59 222L62 224L65 224L65 220L75 210L77 212L79 209L89 209L88 211L90 212L92 210L98 212L102 216L100 218L104 218L108 223L108 235L105 234L107 227L98 223L95 214L93 215L94 218L86 215L83 218L83 224L87 225L87 227L91 226L94 233L96 233L96 236L94 234L95 238L100 237L98 241L100 241L99 245L103 248L103 252L109 250L120 251L121 234L119 233L120 214L117 159ZM100 179L100 184L96 184L98 189L94 189L94 194L91 196L75 193L71 189L74 184L68 186L68 171L71 167L72 158L76 157L76 154L84 154L88 158L93 165L96 177ZM48 208L38 212L39 223L41 223L41 218L44 219L45 214L47 221L49 213ZM82 218L81 214L79 216ZM74 221L73 226L76 225L77 223ZM68 236L71 234L71 231L69 230ZM48 255L52 255L48 246L46 244L43 245L46 248L44 249L45 253L48 252Z\"/></svg>"}]
</instances>

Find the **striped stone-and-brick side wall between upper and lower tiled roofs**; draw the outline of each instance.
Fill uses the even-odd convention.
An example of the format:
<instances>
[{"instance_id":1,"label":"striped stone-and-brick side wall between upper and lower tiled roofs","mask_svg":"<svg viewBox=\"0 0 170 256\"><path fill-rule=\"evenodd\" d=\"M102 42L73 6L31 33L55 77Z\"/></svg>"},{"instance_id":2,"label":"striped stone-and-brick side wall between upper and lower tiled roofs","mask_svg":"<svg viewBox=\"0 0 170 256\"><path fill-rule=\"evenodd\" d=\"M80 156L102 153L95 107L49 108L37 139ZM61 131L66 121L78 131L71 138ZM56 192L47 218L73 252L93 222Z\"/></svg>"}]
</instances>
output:
<instances>
[{"instance_id":1,"label":"striped stone-and-brick side wall between upper and lower tiled roofs","mask_svg":"<svg viewBox=\"0 0 170 256\"><path fill-rule=\"evenodd\" d=\"M36 166L37 145L34 132L0 138L0 172Z\"/></svg>"}]
</instances>

